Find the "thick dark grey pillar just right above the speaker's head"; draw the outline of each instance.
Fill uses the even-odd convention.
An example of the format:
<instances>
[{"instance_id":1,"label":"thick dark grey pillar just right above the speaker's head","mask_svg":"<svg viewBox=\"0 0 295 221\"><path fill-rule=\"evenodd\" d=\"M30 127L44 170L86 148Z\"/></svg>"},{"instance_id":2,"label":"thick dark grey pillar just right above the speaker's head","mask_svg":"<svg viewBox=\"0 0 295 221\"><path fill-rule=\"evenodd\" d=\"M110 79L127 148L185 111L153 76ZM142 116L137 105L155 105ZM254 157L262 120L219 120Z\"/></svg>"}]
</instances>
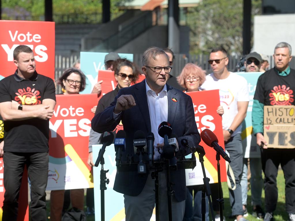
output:
<instances>
[{"instance_id":1,"label":"thick dark grey pillar just right above the speaker's head","mask_svg":"<svg viewBox=\"0 0 295 221\"><path fill-rule=\"evenodd\" d=\"M179 6L178 0L168 0L168 47L175 53L180 52Z\"/></svg>"}]
</instances>

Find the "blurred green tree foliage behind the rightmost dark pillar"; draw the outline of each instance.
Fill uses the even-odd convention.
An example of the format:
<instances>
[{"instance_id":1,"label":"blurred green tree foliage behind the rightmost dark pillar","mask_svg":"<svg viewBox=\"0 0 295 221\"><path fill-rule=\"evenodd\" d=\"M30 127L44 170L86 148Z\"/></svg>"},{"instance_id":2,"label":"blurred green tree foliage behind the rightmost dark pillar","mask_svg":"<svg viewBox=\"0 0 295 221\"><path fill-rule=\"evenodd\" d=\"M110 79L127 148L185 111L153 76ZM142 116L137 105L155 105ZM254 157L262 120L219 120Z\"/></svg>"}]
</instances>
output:
<instances>
[{"instance_id":1,"label":"blurred green tree foliage behind the rightmost dark pillar","mask_svg":"<svg viewBox=\"0 0 295 221\"><path fill-rule=\"evenodd\" d=\"M260 8L261 0L252 0L252 17L261 13ZM198 6L188 8L187 25L191 29L191 53L209 53L221 45L229 52L242 52L241 0L203 0Z\"/></svg>"}]
</instances>

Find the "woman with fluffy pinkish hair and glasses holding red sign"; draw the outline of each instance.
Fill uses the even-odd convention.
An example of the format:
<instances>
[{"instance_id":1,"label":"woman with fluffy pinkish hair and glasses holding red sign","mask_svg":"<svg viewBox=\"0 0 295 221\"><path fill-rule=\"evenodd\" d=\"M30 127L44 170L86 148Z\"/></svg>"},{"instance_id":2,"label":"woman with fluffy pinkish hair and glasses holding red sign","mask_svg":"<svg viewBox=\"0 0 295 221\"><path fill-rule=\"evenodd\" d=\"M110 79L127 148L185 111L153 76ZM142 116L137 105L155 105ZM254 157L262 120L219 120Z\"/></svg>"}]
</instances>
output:
<instances>
[{"instance_id":1,"label":"woman with fluffy pinkish hair and glasses holding red sign","mask_svg":"<svg viewBox=\"0 0 295 221\"><path fill-rule=\"evenodd\" d=\"M186 64L181 74L177 77L178 84L185 88L183 92L199 91L199 87L206 80L205 71L199 66L188 63ZM217 113L222 115L223 108L219 106ZM203 185L195 185L186 187L186 208L184 212L183 221L202 220L201 214L201 188ZM194 190L194 207L193 207L193 190ZM206 197L206 221L209 221L209 202Z\"/></svg>"}]
</instances>

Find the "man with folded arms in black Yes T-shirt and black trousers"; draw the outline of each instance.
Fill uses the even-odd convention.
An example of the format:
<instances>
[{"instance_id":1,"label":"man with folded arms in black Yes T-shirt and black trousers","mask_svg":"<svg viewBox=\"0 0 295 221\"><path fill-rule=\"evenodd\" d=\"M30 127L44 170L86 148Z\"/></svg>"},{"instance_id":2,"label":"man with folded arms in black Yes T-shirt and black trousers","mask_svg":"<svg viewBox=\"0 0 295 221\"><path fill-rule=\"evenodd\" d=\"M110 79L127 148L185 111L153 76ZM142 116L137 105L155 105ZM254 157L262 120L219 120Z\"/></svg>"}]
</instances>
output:
<instances>
[{"instance_id":1,"label":"man with folded arms in black Yes T-shirt and black trousers","mask_svg":"<svg viewBox=\"0 0 295 221\"><path fill-rule=\"evenodd\" d=\"M29 47L19 45L13 57L16 72L0 81L0 115L5 125L2 220L17 220L25 165L31 181L31 220L47 220L49 119L55 107L55 87L52 79L37 74Z\"/></svg>"}]
</instances>

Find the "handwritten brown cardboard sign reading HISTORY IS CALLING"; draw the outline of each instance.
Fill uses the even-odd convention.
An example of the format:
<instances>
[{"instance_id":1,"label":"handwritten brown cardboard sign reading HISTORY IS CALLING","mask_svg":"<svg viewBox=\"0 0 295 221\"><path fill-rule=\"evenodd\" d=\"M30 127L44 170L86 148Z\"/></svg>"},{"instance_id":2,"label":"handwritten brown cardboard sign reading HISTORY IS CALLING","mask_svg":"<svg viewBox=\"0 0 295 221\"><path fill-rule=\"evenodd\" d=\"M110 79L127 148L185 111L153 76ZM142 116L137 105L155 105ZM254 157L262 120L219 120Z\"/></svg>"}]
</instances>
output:
<instances>
[{"instance_id":1,"label":"handwritten brown cardboard sign reading HISTORY IS CALLING","mask_svg":"<svg viewBox=\"0 0 295 221\"><path fill-rule=\"evenodd\" d=\"M295 148L293 105L264 106L264 137L268 147Z\"/></svg>"}]
</instances>

